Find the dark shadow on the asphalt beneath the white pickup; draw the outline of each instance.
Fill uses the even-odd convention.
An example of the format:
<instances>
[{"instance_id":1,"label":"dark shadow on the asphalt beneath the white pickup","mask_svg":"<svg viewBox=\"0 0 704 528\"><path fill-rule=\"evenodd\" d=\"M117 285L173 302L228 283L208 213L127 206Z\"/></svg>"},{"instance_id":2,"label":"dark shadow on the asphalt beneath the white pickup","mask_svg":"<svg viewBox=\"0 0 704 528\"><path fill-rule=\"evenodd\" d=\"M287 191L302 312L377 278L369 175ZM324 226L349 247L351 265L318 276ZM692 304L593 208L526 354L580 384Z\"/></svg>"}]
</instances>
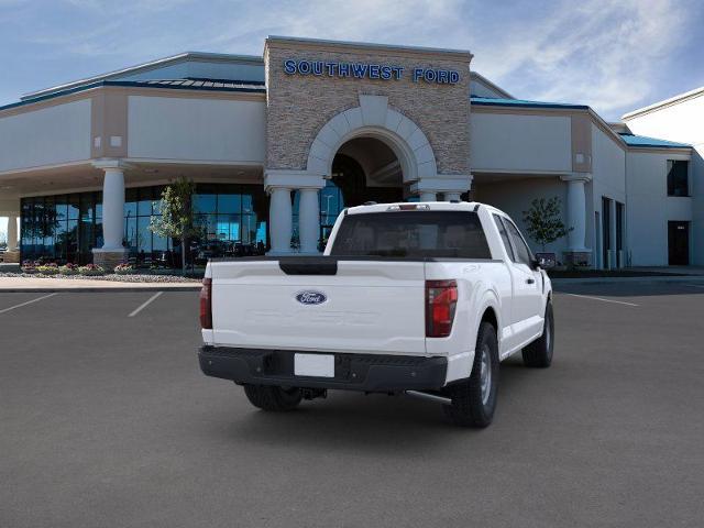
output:
<instances>
[{"instance_id":1,"label":"dark shadow on the asphalt beneath the white pickup","mask_svg":"<svg viewBox=\"0 0 704 528\"><path fill-rule=\"evenodd\" d=\"M370 451L376 455L417 451L422 455L430 447L447 442L495 439L503 427L509 427L505 421L502 426L502 416L506 416L510 400L520 397L521 387L531 378L535 382L535 372L525 369L520 359L502 364L498 408L494 424L484 430L453 426L441 406L431 402L352 392L330 392L327 399L304 402L292 413L265 413L243 406L244 414L219 429L237 442L260 447Z\"/></svg>"}]
</instances>

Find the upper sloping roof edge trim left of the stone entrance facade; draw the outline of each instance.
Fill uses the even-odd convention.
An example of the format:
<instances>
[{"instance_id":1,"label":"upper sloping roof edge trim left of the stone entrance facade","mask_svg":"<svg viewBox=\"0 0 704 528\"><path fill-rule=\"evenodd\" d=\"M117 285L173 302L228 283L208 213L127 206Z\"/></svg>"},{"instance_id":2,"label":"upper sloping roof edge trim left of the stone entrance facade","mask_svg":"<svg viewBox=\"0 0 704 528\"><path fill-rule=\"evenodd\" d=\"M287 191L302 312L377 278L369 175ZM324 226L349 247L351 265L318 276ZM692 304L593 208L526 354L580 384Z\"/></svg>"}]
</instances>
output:
<instances>
[{"instance_id":1,"label":"upper sloping roof edge trim left of the stone entrance facade","mask_svg":"<svg viewBox=\"0 0 704 528\"><path fill-rule=\"evenodd\" d=\"M156 69L168 64L178 64L189 58L197 58L200 61L211 61L211 62L264 64L264 59L255 55L230 55L226 53L184 52L177 55L170 55L168 57L157 58L154 61L150 61L147 63L138 64L135 66L128 66L127 68L116 69L114 72L109 72L107 74L95 75L91 77L86 77L84 79L73 80L70 82L65 82L63 85L53 86L51 88L43 88L41 90L31 91L29 94L22 95L20 97L20 101L35 99L37 97L43 97L52 92L65 91L67 89L80 87L81 85L88 85L88 84L92 84L101 80L110 80L113 77L123 76L125 74L150 72L152 69Z\"/></svg>"}]
</instances>

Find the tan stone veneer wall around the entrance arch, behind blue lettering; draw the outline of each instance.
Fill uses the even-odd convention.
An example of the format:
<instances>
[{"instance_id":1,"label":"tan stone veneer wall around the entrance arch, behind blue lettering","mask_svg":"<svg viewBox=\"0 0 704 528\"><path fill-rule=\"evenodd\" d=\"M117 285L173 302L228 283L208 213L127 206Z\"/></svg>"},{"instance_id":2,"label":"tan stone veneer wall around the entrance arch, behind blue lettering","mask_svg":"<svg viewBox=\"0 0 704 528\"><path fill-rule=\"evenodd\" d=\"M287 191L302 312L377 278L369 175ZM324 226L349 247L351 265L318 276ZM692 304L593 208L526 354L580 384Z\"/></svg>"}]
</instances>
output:
<instances>
[{"instance_id":1,"label":"tan stone veneer wall around the entrance arch, behind blue lettering","mask_svg":"<svg viewBox=\"0 0 704 528\"><path fill-rule=\"evenodd\" d=\"M318 131L336 114L359 107L360 95L388 97L393 108L426 134L439 174L470 174L470 61L471 55L442 52L405 52L389 47L349 48L326 43L267 41L264 61L267 85L266 167L305 169ZM400 80L287 75L284 61L309 59L397 65ZM454 69L455 85L414 82L413 68Z\"/></svg>"}]
</instances>

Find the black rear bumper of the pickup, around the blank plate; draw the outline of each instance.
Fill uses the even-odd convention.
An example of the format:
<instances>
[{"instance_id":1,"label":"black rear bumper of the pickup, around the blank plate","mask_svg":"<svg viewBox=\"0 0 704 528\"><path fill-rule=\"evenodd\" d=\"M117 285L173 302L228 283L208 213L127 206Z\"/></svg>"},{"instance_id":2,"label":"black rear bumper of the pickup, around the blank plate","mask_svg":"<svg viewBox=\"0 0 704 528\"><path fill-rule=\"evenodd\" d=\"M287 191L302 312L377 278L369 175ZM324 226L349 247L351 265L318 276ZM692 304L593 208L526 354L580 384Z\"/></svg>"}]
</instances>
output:
<instances>
[{"instance_id":1,"label":"black rear bumper of the pickup, around the blank plate","mask_svg":"<svg viewBox=\"0 0 704 528\"><path fill-rule=\"evenodd\" d=\"M334 356L334 377L296 376L295 353L289 350L202 346L198 359L204 374L238 384L382 393L439 389L446 383L448 370L447 358L331 353L329 355Z\"/></svg>"}]
</instances>

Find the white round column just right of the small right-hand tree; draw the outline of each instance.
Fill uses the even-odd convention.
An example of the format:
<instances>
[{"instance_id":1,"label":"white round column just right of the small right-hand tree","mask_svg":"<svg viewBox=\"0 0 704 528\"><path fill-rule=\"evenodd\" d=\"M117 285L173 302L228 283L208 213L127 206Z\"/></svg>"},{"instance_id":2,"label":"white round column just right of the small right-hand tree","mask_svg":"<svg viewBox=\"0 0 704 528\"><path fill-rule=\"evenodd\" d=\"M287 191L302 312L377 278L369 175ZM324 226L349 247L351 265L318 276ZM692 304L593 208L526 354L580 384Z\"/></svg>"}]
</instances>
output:
<instances>
[{"instance_id":1,"label":"white round column just right of the small right-hand tree","mask_svg":"<svg viewBox=\"0 0 704 528\"><path fill-rule=\"evenodd\" d=\"M586 248L586 191L584 184L591 182L588 173L573 173L561 176L568 184L568 251L564 253L568 264L587 265L592 250Z\"/></svg>"}]
</instances>

